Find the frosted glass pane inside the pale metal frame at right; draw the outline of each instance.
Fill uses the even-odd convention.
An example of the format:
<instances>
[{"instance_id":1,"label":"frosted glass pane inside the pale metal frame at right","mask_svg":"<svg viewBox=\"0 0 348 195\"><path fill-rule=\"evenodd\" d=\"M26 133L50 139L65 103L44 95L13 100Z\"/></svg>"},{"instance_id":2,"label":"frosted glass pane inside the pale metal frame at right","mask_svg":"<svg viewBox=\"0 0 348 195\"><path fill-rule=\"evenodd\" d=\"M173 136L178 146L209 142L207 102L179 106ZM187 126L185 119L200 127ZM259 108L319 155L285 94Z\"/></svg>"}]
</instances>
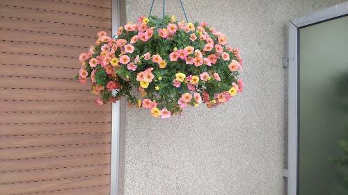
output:
<instances>
[{"instance_id":1,"label":"frosted glass pane inside the pale metal frame at right","mask_svg":"<svg viewBox=\"0 0 348 195\"><path fill-rule=\"evenodd\" d=\"M348 194L348 161L337 162L348 156L342 140L348 141L348 16L299 30L300 195Z\"/></svg>"}]
</instances>

